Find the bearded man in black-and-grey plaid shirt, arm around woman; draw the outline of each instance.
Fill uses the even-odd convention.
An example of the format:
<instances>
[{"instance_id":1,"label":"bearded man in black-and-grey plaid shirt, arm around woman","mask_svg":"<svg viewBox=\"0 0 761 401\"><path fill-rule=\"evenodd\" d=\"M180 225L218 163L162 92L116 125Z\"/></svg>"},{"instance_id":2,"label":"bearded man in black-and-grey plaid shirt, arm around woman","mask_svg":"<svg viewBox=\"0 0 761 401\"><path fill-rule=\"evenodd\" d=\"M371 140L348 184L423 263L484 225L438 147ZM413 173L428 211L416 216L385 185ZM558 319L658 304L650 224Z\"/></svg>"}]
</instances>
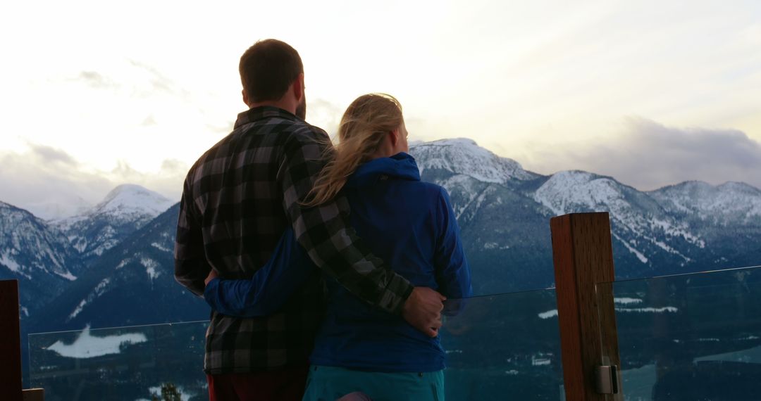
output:
<instances>
[{"instance_id":1,"label":"bearded man in black-and-grey plaid shirt, arm around woman","mask_svg":"<svg viewBox=\"0 0 761 401\"><path fill-rule=\"evenodd\" d=\"M322 272L363 301L436 336L443 297L384 267L351 228L342 196L303 206L331 145L325 131L304 122L298 52L279 40L262 40L244 52L239 68L250 109L188 172L174 250L177 281L202 295L211 270L225 279L250 279L291 226ZM210 399L301 399L322 317L320 274L315 271L267 316L212 311L204 360Z\"/></svg>"}]
</instances>

